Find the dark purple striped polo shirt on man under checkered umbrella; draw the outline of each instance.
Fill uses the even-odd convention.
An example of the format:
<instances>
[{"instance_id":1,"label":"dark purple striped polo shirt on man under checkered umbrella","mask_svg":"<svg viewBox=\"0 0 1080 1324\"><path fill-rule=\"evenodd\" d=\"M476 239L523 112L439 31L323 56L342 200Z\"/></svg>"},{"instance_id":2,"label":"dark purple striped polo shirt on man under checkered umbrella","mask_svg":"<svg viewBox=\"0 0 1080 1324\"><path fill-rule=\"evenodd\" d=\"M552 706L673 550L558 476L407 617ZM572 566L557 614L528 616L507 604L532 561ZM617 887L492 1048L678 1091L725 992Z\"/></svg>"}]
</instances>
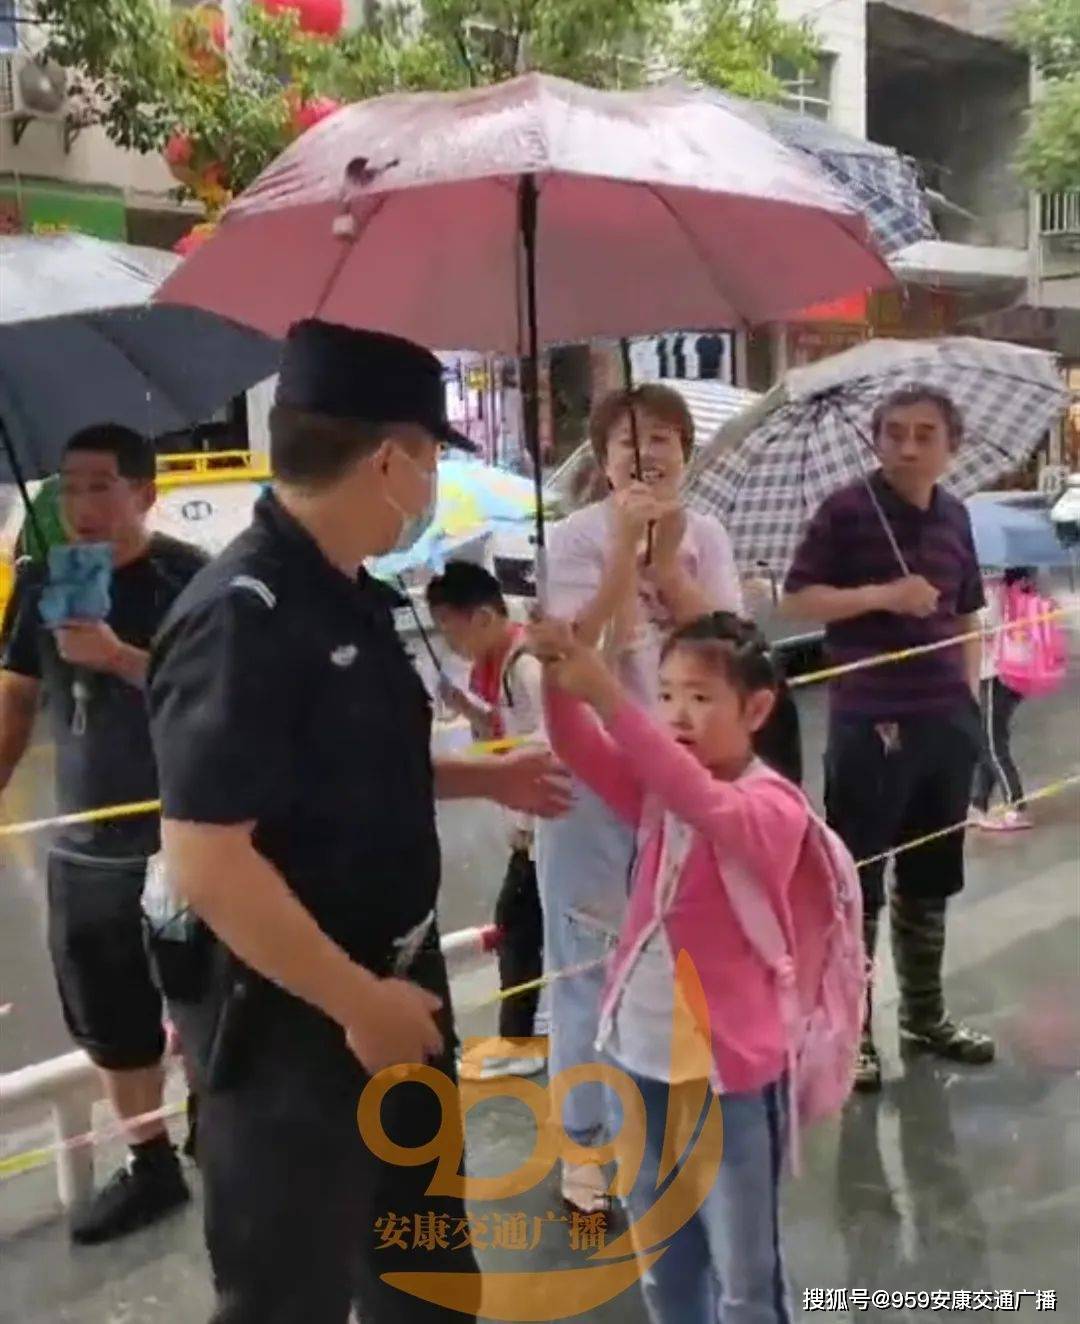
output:
<instances>
[{"instance_id":1,"label":"dark purple striped polo shirt on man under checkered umbrella","mask_svg":"<svg viewBox=\"0 0 1080 1324\"><path fill-rule=\"evenodd\" d=\"M928 579L941 598L926 620L868 612L826 626L826 649L834 665L950 638L961 632L961 617L985 605L964 502L936 487L929 510L920 510L904 500L880 470L870 482L908 569ZM797 593L811 584L860 588L903 573L867 485L859 481L822 502L788 572L785 592ZM830 692L834 715L878 720L949 712L971 696L961 645L854 671L832 681Z\"/></svg>"}]
</instances>

